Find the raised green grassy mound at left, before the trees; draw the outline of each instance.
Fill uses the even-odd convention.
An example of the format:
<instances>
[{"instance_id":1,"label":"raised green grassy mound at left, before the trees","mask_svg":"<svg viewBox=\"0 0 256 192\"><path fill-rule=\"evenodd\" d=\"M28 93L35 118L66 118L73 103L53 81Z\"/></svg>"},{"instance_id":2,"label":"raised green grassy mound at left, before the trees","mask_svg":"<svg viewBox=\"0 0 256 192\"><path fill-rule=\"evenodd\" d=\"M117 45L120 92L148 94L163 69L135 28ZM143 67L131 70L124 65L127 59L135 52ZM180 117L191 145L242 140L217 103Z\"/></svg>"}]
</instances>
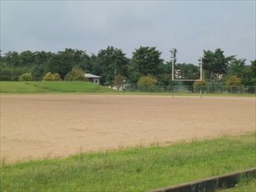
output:
<instances>
[{"instance_id":1,"label":"raised green grassy mound at left, before the trees","mask_svg":"<svg viewBox=\"0 0 256 192\"><path fill-rule=\"evenodd\" d=\"M2 93L22 92L114 92L88 82L0 82Z\"/></svg>"}]
</instances>

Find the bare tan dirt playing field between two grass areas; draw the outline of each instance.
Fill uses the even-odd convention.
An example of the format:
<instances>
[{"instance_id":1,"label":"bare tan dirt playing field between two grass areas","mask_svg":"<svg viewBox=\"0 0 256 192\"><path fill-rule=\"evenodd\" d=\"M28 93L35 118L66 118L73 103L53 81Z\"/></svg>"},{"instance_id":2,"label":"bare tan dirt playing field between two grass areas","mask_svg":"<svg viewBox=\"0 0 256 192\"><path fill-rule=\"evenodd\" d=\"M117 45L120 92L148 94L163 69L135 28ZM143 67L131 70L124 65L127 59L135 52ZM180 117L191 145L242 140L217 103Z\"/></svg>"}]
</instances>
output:
<instances>
[{"instance_id":1,"label":"bare tan dirt playing field between two grass areas","mask_svg":"<svg viewBox=\"0 0 256 192\"><path fill-rule=\"evenodd\" d=\"M1 159L255 131L255 98L1 95Z\"/></svg>"}]
</instances>

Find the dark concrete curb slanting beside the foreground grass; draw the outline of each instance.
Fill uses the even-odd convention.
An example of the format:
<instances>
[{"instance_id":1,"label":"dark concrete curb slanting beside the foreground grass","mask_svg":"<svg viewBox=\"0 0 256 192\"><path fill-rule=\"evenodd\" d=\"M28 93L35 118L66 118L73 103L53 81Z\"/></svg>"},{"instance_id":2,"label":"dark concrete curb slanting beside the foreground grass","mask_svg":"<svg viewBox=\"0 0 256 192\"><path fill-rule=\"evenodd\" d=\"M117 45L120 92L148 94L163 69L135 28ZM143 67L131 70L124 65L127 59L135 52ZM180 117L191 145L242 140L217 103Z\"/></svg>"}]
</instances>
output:
<instances>
[{"instance_id":1,"label":"dark concrete curb slanting beside the foreground grass","mask_svg":"<svg viewBox=\"0 0 256 192\"><path fill-rule=\"evenodd\" d=\"M240 176L256 177L256 167L240 172L232 172L222 176L213 176L205 180L192 181L181 185L174 185L163 189L150 190L149 192L211 192L230 188L236 185Z\"/></svg>"}]
</instances>

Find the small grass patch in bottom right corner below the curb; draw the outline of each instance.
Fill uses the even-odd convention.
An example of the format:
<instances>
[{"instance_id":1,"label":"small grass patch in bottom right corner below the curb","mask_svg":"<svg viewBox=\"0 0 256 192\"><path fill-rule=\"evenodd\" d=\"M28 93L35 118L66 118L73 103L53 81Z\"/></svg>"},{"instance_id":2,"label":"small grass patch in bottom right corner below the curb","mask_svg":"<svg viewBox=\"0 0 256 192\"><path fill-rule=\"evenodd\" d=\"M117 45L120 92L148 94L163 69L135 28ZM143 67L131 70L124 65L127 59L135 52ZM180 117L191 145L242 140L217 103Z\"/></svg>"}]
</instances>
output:
<instances>
[{"instance_id":1,"label":"small grass patch in bottom right corner below the curb","mask_svg":"<svg viewBox=\"0 0 256 192\"><path fill-rule=\"evenodd\" d=\"M235 187L219 192L256 192L256 178L240 181Z\"/></svg>"}]
</instances>

